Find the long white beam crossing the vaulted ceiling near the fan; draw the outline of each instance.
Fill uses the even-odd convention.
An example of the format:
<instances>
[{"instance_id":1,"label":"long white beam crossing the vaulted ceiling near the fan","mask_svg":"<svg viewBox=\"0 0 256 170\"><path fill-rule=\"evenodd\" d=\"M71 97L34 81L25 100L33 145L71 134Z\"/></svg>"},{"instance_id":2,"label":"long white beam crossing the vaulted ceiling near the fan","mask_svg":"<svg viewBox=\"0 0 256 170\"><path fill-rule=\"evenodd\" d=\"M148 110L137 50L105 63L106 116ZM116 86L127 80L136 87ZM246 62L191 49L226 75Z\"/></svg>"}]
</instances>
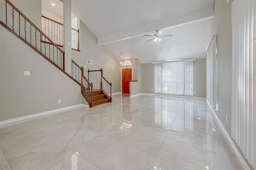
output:
<instances>
[{"instance_id":1,"label":"long white beam crossing the vaulted ceiling near the fan","mask_svg":"<svg viewBox=\"0 0 256 170\"><path fill-rule=\"evenodd\" d=\"M161 20L140 25L132 29L100 37L98 38L98 45L106 45L109 43L114 43L117 41L138 37L140 35L144 35L157 29L170 29L172 27L178 27L181 25L186 25L189 23L198 22L202 20L208 20L211 18L213 18L213 5L206 6L204 8L200 8L190 12L186 12L184 14L180 14L177 16L172 16L171 18L163 18Z\"/></svg>"}]
</instances>

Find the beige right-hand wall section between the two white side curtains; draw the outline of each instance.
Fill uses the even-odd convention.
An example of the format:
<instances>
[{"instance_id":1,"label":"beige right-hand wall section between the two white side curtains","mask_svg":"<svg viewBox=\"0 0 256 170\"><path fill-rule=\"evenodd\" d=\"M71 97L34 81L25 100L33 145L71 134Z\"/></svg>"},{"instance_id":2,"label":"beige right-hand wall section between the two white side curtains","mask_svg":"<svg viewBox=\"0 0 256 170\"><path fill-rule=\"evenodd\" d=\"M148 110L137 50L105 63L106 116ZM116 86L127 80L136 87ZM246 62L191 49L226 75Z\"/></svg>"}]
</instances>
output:
<instances>
[{"instance_id":1,"label":"beige right-hand wall section between the two white side curtains","mask_svg":"<svg viewBox=\"0 0 256 170\"><path fill-rule=\"evenodd\" d=\"M231 68L232 68L232 27L231 4L226 0L214 0L214 18L210 35L218 34L218 112L216 113L226 131L231 133ZM226 122L226 115L228 122Z\"/></svg>"}]
</instances>

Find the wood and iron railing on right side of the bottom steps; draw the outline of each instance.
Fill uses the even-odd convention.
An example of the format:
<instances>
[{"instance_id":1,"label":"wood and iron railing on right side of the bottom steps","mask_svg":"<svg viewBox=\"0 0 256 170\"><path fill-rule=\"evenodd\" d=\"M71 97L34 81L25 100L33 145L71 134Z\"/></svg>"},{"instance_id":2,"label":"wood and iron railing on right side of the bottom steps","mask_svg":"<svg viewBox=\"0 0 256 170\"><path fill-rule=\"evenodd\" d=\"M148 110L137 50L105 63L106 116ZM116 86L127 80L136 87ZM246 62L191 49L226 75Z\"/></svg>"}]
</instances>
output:
<instances>
[{"instance_id":1,"label":"wood and iron railing on right side of the bottom steps","mask_svg":"<svg viewBox=\"0 0 256 170\"><path fill-rule=\"evenodd\" d=\"M103 76L103 70L89 70L88 80L94 84L93 90L103 90L110 102L112 102L112 83Z\"/></svg>"}]
</instances>

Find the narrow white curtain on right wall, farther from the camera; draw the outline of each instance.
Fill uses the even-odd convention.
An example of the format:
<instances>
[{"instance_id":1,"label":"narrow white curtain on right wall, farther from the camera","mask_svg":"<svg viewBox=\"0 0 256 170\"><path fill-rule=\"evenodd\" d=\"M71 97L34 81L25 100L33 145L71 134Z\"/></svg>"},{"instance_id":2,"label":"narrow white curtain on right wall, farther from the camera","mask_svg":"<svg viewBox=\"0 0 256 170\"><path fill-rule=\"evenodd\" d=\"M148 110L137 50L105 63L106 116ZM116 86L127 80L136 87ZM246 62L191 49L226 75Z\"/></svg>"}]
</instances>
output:
<instances>
[{"instance_id":1,"label":"narrow white curtain on right wall, farther from the camera","mask_svg":"<svg viewBox=\"0 0 256 170\"><path fill-rule=\"evenodd\" d=\"M214 35L210 40L208 48L206 49L206 53L206 98L211 104L212 108L216 109L216 35Z\"/></svg>"}]
</instances>

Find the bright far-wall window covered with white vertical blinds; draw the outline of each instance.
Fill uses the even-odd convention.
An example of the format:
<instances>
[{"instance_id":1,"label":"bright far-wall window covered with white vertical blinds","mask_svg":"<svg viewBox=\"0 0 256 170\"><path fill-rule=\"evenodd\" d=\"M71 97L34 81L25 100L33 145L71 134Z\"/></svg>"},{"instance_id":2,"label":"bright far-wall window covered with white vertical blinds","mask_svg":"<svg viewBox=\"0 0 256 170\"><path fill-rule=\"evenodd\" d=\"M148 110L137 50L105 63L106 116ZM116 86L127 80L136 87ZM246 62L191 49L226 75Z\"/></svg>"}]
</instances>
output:
<instances>
[{"instance_id":1,"label":"bright far-wall window covered with white vertical blinds","mask_svg":"<svg viewBox=\"0 0 256 170\"><path fill-rule=\"evenodd\" d=\"M193 95L193 61L154 64L155 93Z\"/></svg>"}]
</instances>

